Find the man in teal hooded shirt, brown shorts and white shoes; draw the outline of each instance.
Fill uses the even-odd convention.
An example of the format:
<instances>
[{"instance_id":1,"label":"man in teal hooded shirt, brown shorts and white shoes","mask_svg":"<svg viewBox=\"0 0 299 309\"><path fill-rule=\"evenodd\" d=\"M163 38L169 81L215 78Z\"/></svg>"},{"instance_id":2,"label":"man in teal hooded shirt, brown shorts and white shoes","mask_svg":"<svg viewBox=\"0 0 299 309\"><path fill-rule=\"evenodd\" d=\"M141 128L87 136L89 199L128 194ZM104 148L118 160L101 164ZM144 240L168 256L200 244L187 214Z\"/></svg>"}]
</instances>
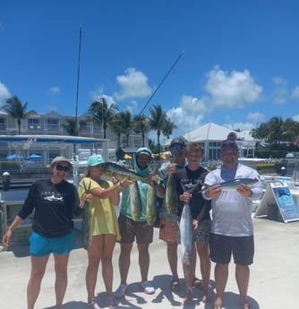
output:
<instances>
[{"instance_id":1,"label":"man in teal hooded shirt, brown shorts and white shoes","mask_svg":"<svg viewBox=\"0 0 299 309\"><path fill-rule=\"evenodd\" d=\"M151 151L146 147L141 147L136 152L134 159L134 168L141 176L149 176L150 168L149 162L151 159ZM158 175L151 176L151 180L157 182ZM130 255L132 251L132 243L136 239L138 252L139 252L139 266L141 270L141 288L145 294L154 294L155 288L148 280L149 273L149 244L153 241L153 227L150 226L146 218L147 207L147 193L149 185L143 181L137 181L134 184L134 188L137 188L136 193L139 195L138 201L141 205L141 216L139 219L134 220L132 215L131 203L136 200L133 198L132 190L126 188L123 191L123 198L121 203L120 215L118 218L119 227L122 235L120 241L121 253L119 256L119 270L121 283L115 290L116 297L123 297L127 290L127 277L130 268ZM132 187L132 185L131 185ZM158 190L158 185L156 185Z\"/></svg>"}]
</instances>

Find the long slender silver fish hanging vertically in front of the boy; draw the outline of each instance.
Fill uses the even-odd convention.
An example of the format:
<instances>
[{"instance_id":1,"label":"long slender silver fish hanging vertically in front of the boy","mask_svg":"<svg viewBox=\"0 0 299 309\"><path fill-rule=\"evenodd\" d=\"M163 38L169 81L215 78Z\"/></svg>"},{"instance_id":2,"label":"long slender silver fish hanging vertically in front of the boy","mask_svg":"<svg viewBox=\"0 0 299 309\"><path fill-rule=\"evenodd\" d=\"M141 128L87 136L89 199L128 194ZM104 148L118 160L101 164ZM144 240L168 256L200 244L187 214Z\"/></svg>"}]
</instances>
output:
<instances>
[{"instance_id":1,"label":"long slender silver fish hanging vertically in front of the boy","mask_svg":"<svg viewBox=\"0 0 299 309\"><path fill-rule=\"evenodd\" d=\"M193 256L193 225L192 213L189 202L184 204L182 217L180 220L181 234L181 251L184 273L188 274L192 271L192 256Z\"/></svg>"}]
</instances>

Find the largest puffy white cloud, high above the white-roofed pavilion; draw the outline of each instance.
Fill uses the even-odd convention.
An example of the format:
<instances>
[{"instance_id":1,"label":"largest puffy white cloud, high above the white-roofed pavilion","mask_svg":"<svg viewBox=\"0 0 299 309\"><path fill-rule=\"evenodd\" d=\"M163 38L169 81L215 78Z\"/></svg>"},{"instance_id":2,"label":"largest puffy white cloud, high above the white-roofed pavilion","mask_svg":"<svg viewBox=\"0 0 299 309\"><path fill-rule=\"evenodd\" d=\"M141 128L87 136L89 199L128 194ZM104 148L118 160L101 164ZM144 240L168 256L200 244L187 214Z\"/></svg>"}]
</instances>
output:
<instances>
[{"instance_id":1,"label":"largest puffy white cloud, high above the white-roofed pavilion","mask_svg":"<svg viewBox=\"0 0 299 309\"><path fill-rule=\"evenodd\" d=\"M261 99L262 87L254 82L248 70L227 73L217 65L207 73L205 90L213 107L241 108Z\"/></svg>"}]
</instances>

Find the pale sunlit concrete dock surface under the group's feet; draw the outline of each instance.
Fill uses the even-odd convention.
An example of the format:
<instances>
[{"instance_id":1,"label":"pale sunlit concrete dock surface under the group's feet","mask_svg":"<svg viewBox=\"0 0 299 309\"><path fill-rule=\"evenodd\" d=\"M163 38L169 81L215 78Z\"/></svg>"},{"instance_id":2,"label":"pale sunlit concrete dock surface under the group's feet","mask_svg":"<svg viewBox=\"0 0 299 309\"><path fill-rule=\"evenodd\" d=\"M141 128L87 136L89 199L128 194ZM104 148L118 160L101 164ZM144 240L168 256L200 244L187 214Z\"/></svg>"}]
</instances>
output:
<instances>
[{"instance_id":1,"label":"pale sunlit concrete dock surface under the group's feet","mask_svg":"<svg viewBox=\"0 0 299 309\"><path fill-rule=\"evenodd\" d=\"M249 301L252 309L284 309L298 308L296 296L299 282L299 221L280 223L269 219L253 219L255 228L255 257L251 266ZM180 256L180 247L178 248ZM201 290L194 288L192 305L183 305L184 276L179 260L178 270L181 289L173 293L170 289L171 275L167 263L167 246L158 239L158 228L155 228L154 243L149 246L150 266L149 280L152 280L156 293L145 295L140 287L140 270L136 245L133 245L131 268L129 270L127 295L120 299L119 308L196 308L210 309L213 307L214 264L210 276L211 302L201 302ZM115 245L113 257L114 289L118 287L119 245ZM197 259L197 261L199 261ZM81 231L76 230L76 248L69 261L68 288L64 297L65 309L88 308L85 288L85 271L87 253L81 247ZM26 287L30 277L29 245L11 245L0 253L0 307L5 309L26 309ZM196 275L201 278L199 265ZM55 272L53 257L47 265L45 277L36 303L36 309L54 309ZM104 283L101 270L98 271L96 288L97 301L101 308L107 307ZM229 278L224 296L224 309L239 309L238 290L235 283L235 265L230 263Z\"/></svg>"}]
</instances>

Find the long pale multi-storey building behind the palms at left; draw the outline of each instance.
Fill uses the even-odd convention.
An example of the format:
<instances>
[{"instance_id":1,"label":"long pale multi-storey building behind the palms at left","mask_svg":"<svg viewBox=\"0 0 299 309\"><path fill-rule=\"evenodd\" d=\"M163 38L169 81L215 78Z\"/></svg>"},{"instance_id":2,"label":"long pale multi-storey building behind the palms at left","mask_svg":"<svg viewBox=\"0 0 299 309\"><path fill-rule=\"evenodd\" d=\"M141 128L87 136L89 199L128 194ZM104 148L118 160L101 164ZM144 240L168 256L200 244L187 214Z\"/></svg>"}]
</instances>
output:
<instances>
[{"instance_id":1,"label":"long pale multi-storey building behind the palms at left","mask_svg":"<svg viewBox=\"0 0 299 309\"><path fill-rule=\"evenodd\" d=\"M21 134L22 135L68 135L65 131L63 124L68 118L73 118L71 115L60 115L55 111L47 114L30 114L25 119L21 120ZM79 133L81 137L93 138L103 140L104 131L101 124L93 121L89 114L82 114L78 116ZM17 135L18 125L16 119L9 114L0 111L0 135ZM147 143L147 140L146 140ZM107 129L107 149L108 159L115 159L115 150L117 149L117 136L116 134ZM132 132L127 143L126 137L121 136L120 147L126 150L137 150L142 146L141 134ZM97 143L82 143L76 148L76 153L84 158L89 154L102 150L102 142ZM30 153L38 153L43 158L54 158L56 155L64 154L68 158L73 157L74 148L67 148L65 144L49 142L38 142L28 141L27 143L16 142L0 142L0 159L5 159L7 156L12 154L18 154L20 157L28 158ZM81 159L81 158L80 158Z\"/></svg>"}]
</instances>

